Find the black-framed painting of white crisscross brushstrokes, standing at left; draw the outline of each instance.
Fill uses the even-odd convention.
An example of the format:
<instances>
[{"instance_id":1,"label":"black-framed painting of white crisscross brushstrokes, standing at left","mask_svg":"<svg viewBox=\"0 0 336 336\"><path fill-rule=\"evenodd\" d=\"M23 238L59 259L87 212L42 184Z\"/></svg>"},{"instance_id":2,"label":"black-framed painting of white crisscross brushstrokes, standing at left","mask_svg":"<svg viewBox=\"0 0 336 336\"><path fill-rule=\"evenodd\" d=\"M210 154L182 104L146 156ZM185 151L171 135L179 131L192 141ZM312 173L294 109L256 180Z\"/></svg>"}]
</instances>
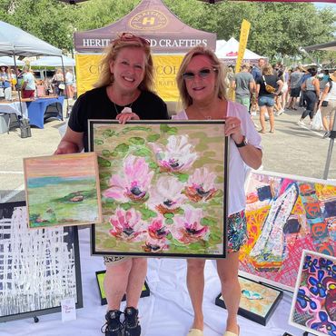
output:
<instances>
[{"instance_id":1,"label":"black-framed painting of white crisscross brushstrokes, standing at left","mask_svg":"<svg viewBox=\"0 0 336 336\"><path fill-rule=\"evenodd\" d=\"M29 230L25 202L0 203L0 321L83 307L77 227Z\"/></svg>"}]
</instances>

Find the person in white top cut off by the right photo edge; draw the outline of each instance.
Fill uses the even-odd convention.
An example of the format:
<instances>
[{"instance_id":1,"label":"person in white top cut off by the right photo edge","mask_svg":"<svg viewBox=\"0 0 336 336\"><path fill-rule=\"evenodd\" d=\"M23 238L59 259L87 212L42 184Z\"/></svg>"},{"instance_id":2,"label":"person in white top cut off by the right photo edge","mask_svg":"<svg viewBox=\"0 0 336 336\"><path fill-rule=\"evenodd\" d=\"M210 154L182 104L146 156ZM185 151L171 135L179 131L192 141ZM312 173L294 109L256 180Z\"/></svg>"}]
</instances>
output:
<instances>
[{"instance_id":1,"label":"person in white top cut off by the right photo edge","mask_svg":"<svg viewBox=\"0 0 336 336\"><path fill-rule=\"evenodd\" d=\"M324 86L319 103L322 124L326 130L323 138L328 138L330 136L336 114L336 71L332 74L329 74L328 72L328 77L329 81ZM323 104L323 102L327 102L327 105L325 106L325 103Z\"/></svg>"}]
</instances>

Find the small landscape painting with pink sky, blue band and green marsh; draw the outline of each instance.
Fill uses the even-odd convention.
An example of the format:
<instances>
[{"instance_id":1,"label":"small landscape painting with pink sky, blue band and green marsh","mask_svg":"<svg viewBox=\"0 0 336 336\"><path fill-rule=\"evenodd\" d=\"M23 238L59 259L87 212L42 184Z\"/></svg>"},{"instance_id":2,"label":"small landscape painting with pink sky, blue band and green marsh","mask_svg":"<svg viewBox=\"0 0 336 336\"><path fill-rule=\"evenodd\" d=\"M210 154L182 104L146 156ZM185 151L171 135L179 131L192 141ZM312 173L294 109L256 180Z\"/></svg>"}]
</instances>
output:
<instances>
[{"instance_id":1,"label":"small landscape painting with pink sky, blue band and green marsh","mask_svg":"<svg viewBox=\"0 0 336 336\"><path fill-rule=\"evenodd\" d=\"M29 228L102 222L95 153L24 159Z\"/></svg>"}]
</instances>

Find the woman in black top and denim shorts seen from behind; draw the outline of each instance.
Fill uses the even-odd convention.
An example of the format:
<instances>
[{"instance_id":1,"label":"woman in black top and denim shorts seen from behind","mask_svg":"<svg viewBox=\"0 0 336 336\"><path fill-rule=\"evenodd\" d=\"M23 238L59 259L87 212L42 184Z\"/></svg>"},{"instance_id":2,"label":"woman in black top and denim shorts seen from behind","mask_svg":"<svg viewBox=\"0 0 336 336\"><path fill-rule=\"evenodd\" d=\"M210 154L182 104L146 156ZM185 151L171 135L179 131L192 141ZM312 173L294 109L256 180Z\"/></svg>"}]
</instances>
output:
<instances>
[{"instance_id":1,"label":"woman in black top and denim shorts seen from behind","mask_svg":"<svg viewBox=\"0 0 336 336\"><path fill-rule=\"evenodd\" d=\"M262 68L262 77L257 79L256 84L258 104L260 108L260 123L262 126L262 129L259 132L266 133L265 114L268 113L271 125L270 133L274 133L274 97L282 92L282 80L274 74L272 65L267 64ZM266 91L266 84L271 85L275 89L273 94Z\"/></svg>"}]
</instances>

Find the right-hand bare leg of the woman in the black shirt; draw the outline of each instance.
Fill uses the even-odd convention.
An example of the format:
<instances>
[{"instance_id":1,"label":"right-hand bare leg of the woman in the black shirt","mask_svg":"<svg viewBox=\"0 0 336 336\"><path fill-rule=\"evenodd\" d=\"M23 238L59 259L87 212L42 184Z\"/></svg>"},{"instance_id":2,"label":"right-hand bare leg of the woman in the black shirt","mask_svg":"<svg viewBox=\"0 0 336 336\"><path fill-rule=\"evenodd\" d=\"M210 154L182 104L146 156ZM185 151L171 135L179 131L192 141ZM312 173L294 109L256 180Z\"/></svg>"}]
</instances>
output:
<instances>
[{"instance_id":1,"label":"right-hand bare leg of the woman in the black shirt","mask_svg":"<svg viewBox=\"0 0 336 336\"><path fill-rule=\"evenodd\" d=\"M146 274L147 259L133 258L126 290L127 307L137 308L141 292L143 291L143 283Z\"/></svg>"}]
</instances>

